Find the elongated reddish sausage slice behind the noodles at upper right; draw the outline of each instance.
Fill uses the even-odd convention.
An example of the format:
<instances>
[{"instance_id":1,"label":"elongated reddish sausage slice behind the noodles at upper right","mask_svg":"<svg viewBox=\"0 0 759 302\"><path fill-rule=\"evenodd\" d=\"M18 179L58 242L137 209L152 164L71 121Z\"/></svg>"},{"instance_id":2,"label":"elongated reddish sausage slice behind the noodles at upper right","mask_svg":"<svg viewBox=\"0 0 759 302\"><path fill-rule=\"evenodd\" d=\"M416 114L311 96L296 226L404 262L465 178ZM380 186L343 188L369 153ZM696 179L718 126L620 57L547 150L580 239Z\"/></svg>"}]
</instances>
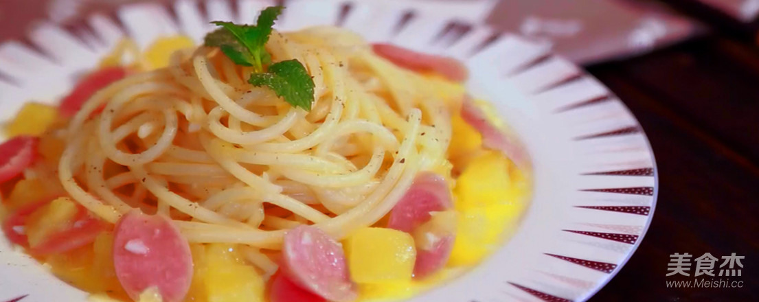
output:
<instances>
[{"instance_id":1,"label":"elongated reddish sausage slice behind the noodles at upper right","mask_svg":"<svg viewBox=\"0 0 759 302\"><path fill-rule=\"evenodd\" d=\"M469 77L466 66L454 58L427 55L384 43L373 44L372 48L377 55L412 71L434 72L454 82L463 82Z\"/></svg>"}]
</instances>

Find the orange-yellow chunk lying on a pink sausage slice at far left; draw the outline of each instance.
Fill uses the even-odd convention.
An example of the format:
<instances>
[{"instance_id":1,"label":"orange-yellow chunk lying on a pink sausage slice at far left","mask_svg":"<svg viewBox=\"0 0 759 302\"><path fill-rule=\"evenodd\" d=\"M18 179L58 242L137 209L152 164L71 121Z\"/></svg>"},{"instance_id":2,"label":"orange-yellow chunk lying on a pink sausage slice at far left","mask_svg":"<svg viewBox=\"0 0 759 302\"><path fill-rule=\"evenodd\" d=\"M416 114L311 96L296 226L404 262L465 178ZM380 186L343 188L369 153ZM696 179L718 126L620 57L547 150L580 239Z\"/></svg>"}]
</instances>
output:
<instances>
[{"instance_id":1,"label":"orange-yellow chunk lying on a pink sausage slice at far left","mask_svg":"<svg viewBox=\"0 0 759 302\"><path fill-rule=\"evenodd\" d=\"M69 228L76 220L77 213L77 204L68 197L56 198L34 211L27 219L29 246L36 247L46 241L50 234Z\"/></svg>"}]
</instances>

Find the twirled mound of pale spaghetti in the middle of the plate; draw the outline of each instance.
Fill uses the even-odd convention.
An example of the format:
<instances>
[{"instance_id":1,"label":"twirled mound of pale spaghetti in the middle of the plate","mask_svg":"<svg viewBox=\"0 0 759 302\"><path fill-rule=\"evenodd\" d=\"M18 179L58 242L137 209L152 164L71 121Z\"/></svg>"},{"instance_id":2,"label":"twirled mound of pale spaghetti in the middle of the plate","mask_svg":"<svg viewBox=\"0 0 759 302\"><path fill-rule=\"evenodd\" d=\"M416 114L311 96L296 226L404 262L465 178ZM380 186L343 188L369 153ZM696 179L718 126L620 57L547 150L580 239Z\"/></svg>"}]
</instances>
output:
<instances>
[{"instance_id":1,"label":"twirled mound of pale spaghetti in the middle of the plate","mask_svg":"<svg viewBox=\"0 0 759 302\"><path fill-rule=\"evenodd\" d=\"M450 175L458 84L334 28L273 33L266 49L313 76L310 112L250 86L250 68L217 49L175 52L72 118L58 166L68 195L107 222L139 208L170 215L191 243L245 244L271 275L260 249L279 249L288 228L344 238L382 219L418 172Z\"/></svg>"}]
</instances>

